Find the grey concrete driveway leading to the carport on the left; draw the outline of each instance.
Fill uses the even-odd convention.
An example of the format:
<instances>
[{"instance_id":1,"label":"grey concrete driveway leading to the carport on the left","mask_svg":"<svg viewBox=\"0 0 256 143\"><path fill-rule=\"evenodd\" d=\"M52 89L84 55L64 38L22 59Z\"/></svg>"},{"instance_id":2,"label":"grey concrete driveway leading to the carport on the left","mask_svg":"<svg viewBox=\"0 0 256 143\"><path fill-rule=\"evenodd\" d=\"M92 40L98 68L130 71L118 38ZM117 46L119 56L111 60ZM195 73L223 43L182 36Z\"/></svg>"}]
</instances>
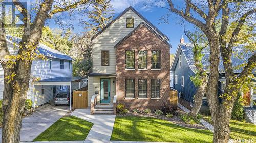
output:
<instances>
[{"instance_id":1,"label":"grey concrete driveway leading to the carport on the left","mask_svg":"<svg viewBox=\"0 0 256 143\"><path fill-rule=\"evenodd\" d=\"M47 104L33 112L32 115L24 117L22 120L20 141L33 141L68 111L68 106L54 107ZM0 129L0 141L2 141L2 128Z\"/></svg>"}]
</instances>

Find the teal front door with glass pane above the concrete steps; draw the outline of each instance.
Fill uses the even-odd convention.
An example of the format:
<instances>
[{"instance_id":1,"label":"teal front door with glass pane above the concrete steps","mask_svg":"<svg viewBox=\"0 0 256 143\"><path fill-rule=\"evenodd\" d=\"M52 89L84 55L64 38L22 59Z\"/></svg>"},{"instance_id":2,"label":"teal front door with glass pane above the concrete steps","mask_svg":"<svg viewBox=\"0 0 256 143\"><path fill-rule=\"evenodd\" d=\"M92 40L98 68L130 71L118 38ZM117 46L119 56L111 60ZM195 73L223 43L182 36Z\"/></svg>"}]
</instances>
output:
<instances>
[{"instance_id":1,"label":"teal front door with glass pane above the concrete steps","mask_svg":"<svg viewBox=\"0 0 256 143\"><path fill-rule=\"evenodd\" d=\"M100 79L100 103L110 103L110 79Z\"/></svg>"}]
</instances>

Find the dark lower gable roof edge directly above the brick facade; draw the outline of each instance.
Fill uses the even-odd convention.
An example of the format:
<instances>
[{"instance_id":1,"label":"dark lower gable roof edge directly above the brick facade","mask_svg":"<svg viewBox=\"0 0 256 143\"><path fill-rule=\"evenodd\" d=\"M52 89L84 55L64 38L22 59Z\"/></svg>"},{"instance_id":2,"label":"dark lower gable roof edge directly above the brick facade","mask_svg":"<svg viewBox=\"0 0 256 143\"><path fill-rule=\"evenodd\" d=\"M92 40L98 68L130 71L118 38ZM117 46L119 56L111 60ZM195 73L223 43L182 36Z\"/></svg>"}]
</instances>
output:
<instances>
[{"instance_id":1,"label":"dark lower gable roof edge directly above the brick facade","mask_svg":"<svg viewBox=\"0 0 256 143\"><path fill-rule=\"evenodd\" d=\"M172 48L172 45L166 41L163 37L161 37L158 33L156 33L150 26L148 26L145 22L141 22L137 27L134 28L134 30L132 30L129 34L127 34L125 37L123 37L115 46L114 48L118 47L125 39L127 39L128 37L130 37L133 32L135 32L138 28L140 28L141 26L145 26L148 30L150 30L152 33L154 33L161 41L163 41L165 44L167 44L170 48Z\"/></svg>"}]
</instances>

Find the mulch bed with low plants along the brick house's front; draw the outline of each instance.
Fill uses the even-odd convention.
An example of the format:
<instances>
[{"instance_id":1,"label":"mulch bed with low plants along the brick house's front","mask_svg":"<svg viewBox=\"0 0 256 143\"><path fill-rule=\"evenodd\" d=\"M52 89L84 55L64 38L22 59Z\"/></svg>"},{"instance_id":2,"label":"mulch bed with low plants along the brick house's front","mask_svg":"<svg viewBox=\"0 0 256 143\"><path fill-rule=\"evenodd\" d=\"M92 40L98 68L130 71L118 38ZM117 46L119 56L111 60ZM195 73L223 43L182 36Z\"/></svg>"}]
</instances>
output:
<instances>
[{"instance_id":1,"label":"mulch bed with low plants along the brick house's front","mask_svg":"<svg viewBox=\"0 0 256 143\"><path fill-rule=\"evenodd\" d=\"M207 130L207 128L204 127L202 124L186 124L186 123L182 122L182 120L180 119L180 116L184 115L185 112L182 111L180 108L178 108L176 114L173 115L173 117L171 117L171 118L165 117L164 115L155 115L154 111L151 111L151 112L152 113L145 113L143 111L139 111L138 113L134 113L134 112L130 111L129 113L125 113L125 114L118 113L117 116L152 117L152 118L167 120L167 121L170 121L172 123L178 124L178 125L183 126L183 127L194 128L194 129L206 129Z\"/></svg>"}]
</instances>

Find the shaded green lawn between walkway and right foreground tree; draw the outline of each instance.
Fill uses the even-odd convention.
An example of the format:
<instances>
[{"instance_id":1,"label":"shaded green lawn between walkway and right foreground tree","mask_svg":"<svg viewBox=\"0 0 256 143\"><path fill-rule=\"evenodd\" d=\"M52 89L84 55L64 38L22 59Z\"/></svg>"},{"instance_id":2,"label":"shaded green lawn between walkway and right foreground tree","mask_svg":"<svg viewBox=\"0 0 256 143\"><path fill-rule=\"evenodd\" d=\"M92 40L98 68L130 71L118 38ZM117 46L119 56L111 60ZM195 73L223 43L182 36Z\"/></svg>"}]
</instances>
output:
<instances>
[{"instance_id":1,"label":"shaded green lawn between walkway and right foreground tree","mask_svg":"<svg viewBox=\"0 0 256 143\"><path fill-rule=\"evenodd\" d=\"M192 129L150 118L116 117L111 140L154 142L212 142L209 130Z\"/></svg>"}]
</instances>

